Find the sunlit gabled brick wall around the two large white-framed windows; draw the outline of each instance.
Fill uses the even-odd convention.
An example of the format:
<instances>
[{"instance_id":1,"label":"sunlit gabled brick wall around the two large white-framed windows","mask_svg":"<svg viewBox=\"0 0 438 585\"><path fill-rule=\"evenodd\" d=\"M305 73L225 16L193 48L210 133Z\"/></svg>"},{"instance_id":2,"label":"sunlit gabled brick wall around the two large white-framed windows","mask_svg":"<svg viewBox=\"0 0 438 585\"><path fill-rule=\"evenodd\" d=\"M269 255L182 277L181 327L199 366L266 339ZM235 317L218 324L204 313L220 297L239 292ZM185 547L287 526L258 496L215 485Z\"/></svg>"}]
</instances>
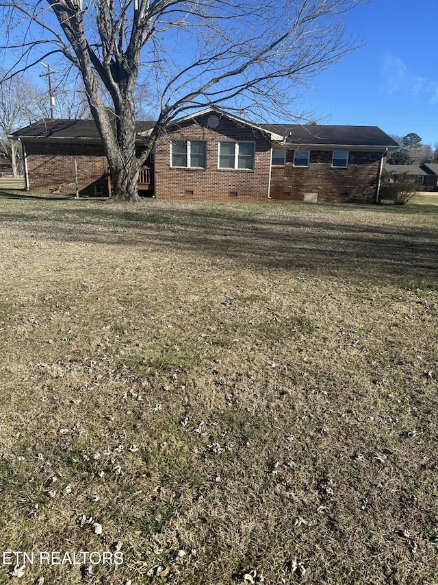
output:
<instances>
[{"instance_id":1,"label":"sunlit gabled brick wall around the two large white-framed windows","mask_svg":"<svg viewBox=\"0 0 438 585\"><path fill-rule=\"evenodd\" d=\"M159 199L230 200L268 202L271 144L259 130L221 117L215 129L207 126L208 115L170 129L155 145L155 197ZM207 143L205 169L170 167L170 141L196 140ZM254 141L255 167L218 169L220 141ZM193 191L193 194L186 194ZM230 196L237 193L237 197Z\"/></svg>"}]
</instances>

